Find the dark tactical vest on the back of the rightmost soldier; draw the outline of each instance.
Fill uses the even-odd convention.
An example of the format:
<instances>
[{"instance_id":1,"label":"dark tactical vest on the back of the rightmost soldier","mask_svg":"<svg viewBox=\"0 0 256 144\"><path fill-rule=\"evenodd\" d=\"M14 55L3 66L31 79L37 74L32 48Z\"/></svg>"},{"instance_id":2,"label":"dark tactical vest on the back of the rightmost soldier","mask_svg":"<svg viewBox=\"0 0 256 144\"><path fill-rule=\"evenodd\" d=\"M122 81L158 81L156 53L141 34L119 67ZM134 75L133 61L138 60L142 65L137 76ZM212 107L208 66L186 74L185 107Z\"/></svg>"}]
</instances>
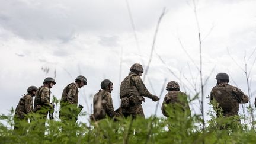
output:
<instances>
[{"instance_id":1,"label":"dark tactical vest on the back of the rightmost soldier","mask_svg":"<svg viewBox=\"0 0 256 144\"><path fill-rule=\"evenodd\" d=\"M219 108L222 108L224 113L239 110L238 98L232 94L231 85L225 87L215 86L213 89L213 99L219 103Z\"/></svg>"}]
</instances>

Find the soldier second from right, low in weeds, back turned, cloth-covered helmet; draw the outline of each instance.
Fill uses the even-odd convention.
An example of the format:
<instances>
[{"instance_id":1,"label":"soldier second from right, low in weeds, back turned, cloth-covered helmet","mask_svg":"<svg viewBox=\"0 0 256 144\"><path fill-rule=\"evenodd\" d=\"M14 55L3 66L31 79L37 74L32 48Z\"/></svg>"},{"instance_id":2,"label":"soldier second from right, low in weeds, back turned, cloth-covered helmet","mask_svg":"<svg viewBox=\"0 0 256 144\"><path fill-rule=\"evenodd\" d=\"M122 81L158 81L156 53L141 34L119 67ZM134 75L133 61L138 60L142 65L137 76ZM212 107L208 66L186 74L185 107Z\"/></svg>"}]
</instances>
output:
<instances>
[{"instance_id":1,"label":"soldier second from right, low in weeds, back turned, cloth-covered helmet","mask_svg":"<svg viewBox=\"0 0 256 144\"><path fill-rule=\"evenodd\" d=\"M181 111L185 113L185 116L190 116L190 107L188 105L187 95L180 91L180 85L178 82L168 82L166 90L168 93L165 95L162 103L162 113L164 116L169 117L169 114L166 111L167 105L174 106L172 107L174 108L173 112L175 112L175 109L178 110L178 107L180 107Z\"/></svg>"}]
</instances>

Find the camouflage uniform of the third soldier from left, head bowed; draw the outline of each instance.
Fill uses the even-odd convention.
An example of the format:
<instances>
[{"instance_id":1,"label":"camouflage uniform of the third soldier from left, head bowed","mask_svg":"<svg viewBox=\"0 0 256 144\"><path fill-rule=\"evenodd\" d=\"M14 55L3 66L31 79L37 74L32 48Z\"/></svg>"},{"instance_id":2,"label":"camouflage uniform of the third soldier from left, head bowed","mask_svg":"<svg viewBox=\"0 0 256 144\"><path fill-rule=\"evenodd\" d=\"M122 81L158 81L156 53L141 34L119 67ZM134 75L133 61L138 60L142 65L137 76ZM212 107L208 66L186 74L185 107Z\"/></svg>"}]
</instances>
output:
<instances>
[{"instance_id":1,"label":"camouflage uniform of the third soldier from left, head bowed","mask_svg":"<svg viewBox=\"0 0 256 144\"><path fill-rule=\"evenodd\" d=\"M59 117L60 119L72 119L72 116L70 114L63 114L62 109L65 108L66 105L72 104L75 108L78 105L78 87L76 87L75 83L68 84L62 92L62 99L60 100L60 112ZM69 112L72 113L72 111ZM68 115L68 116L67 116ZM77 120L77 116L75 117L75 120Z\"/></svg>"}]
</instances>

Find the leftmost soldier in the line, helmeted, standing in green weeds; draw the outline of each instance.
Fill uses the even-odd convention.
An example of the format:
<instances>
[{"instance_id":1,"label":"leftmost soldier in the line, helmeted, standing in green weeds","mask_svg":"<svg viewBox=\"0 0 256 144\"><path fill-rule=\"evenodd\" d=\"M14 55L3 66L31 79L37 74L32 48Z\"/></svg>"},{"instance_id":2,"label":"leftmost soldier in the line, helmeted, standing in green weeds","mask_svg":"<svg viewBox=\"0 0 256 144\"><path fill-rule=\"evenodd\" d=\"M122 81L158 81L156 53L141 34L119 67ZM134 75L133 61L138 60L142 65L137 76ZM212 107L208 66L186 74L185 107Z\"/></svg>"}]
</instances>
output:
<instances>
[{"instance_id":1,"label":"leftmost soldier in the line, helmeted, standing in green weeds","mask_svg":"<svg viewBox=\"0 0 256 144\"><path fill-rule=\"evenodd\" d=\"M33 98L36 95L37 87L36 86L30 86L27 89L27 94L24 95L16 109L15 109L15 125L14 129L18 129L19 123L18 121L25 120L28 121L27 114L30 114L33 112Z\"/></svg>"}]
</instances>

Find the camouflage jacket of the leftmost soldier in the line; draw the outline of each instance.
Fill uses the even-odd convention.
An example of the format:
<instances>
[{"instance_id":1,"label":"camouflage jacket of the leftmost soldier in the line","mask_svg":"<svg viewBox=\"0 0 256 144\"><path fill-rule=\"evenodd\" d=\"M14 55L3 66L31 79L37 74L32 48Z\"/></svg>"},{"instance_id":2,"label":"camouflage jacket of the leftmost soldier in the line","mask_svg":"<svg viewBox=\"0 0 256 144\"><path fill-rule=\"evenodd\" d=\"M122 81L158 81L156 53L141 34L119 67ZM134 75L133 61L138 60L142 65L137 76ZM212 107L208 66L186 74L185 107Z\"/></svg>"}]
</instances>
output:
<instances>
[{"instance_id":1,"label":"camouflage jacket of the leftmost soldier in the line","mask_svg":"<svg viewBox=\"0 0 256 144\"><path fill-rule=\"evenodd\" d=\"M25 114L29 114L32 112L33 112L33 98L30 94L26 94L20 99L15 109L15 115L20 119L24 119Z\"/></svg>"}]
</instances>

